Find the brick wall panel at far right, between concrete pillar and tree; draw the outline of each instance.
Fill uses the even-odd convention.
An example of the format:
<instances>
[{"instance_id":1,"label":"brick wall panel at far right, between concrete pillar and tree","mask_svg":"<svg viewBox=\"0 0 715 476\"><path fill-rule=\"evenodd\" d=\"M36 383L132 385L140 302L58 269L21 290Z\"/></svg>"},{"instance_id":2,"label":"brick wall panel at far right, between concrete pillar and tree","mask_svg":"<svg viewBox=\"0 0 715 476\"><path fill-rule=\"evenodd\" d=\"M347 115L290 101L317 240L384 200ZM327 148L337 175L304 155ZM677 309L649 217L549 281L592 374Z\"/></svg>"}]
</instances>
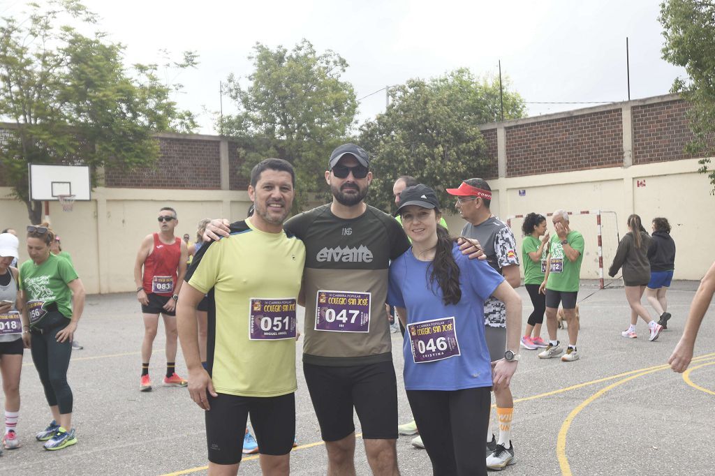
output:
<instances>
[{"instance_id":1,"label":"brick wall panel at far right, between concrete pillar and tree","mask_svg":"<svg viewBox=\"0 0 715 476\"><path fill-rule=\"evenodd\" d=\"M633 106L633 164L649 164L697 157L684 152L693 139L681 99Z\"/></svg>"}]
</instances>

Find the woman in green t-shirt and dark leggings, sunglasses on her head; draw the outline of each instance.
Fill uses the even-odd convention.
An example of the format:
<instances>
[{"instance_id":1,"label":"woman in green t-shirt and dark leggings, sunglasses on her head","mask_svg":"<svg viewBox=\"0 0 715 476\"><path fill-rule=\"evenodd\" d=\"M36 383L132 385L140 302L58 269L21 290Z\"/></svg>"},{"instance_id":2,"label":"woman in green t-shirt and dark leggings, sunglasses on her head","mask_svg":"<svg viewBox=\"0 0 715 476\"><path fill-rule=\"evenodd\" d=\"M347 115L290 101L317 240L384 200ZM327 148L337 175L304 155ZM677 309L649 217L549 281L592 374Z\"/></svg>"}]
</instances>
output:
<instances>
[{"instance_id":1,"label":"woman in green t-shirt and dark leggings, sunglasses on her head","mask_svg":"<svg viewBox=\"0 0 715 476\"><path fill-rule=\"evenodd\" d=\"M55 234L48 224L27 227L30 259L20 267L20 285L32 362L44 387L54 420L35 435L45 450L61 450L77 443L72 419L72 390L67 384L72 335L84 309L84 286L74 267L50 253Z\"/></svg>"}]
</instances>

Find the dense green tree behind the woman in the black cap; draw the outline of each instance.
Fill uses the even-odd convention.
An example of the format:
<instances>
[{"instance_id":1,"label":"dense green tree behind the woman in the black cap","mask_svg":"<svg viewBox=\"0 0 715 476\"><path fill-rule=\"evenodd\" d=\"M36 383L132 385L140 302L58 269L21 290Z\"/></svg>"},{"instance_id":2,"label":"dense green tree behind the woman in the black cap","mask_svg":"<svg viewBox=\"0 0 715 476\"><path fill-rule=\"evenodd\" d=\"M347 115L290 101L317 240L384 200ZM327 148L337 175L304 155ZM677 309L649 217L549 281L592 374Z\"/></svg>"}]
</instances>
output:
<instances>
[{"instance_id":1,"label":"dense green tree behind the woman in the black cap","mask_svg":"<svg viewBox=\"0 0 715 476\"><path fill-rule=\"evenodd\" d=\"M504 86L504 119L523 117L523 99L508 81ZM456 69L393 86L390 99L385 114L360 127L360 144L375 157L372 204L394 206L392 187L400 175L434 187L442 204L452 200L444 187L483 175L490 158L479 126L501 119L498 79Z\"/></svg>"}]
</instances>

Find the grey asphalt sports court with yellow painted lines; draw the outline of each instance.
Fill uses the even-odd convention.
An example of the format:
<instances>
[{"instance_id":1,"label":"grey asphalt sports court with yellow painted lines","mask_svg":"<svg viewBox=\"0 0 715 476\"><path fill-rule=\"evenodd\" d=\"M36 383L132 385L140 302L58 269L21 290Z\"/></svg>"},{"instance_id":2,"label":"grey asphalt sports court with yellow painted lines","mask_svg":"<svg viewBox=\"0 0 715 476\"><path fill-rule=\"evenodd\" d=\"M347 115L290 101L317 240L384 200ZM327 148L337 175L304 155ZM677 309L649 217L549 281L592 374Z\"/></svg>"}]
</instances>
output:
<instances>
[{"instance_id":1,"label":"grey asphalt sports court with yellow painted lines","mask_svg":"<svg viewBox=\"0 0 715 476\"><path fill-rule=\"evenodd\" d=\"M656 342L648 341L642 321L638 322L638 339L621 337L628 323L628 304L622 288L608 287L580 304L581 360L539 360L536 351L522 349L512 385L517 462L504 474L712 474L715 304L701 328L690 372L682 376L666 365L696 286L696 282L674 283L668 294L673 318ZM595 283L586 283L580 296L586 297L596 289ZM526 289L521 287L518 292L524 302L526 325L531 303ZM18 425L22 446L4 452L0 473L205 474L202 411L189 399L187 390L157 385L165 363L162 329L151 362L154 391L141 393L139 345L143 328L134 294L87 297L77 332L84 349L74 351L69 368L78 443L48 452L34 440L34 433L44 429L51 417L26 352ZM559 330L559 337L566 339L566 331ZM406 422L410 410L401 382L399 334L393 334L393 353L400 385L400 422ZM300 345L297 354L300 357ZM186 375L180 356L177 372ZM298 385L299 446L291 455L291 472L325 475L325 447L320 442L300 364ZM360 432L357 418L355 422ZM426 452L413 448L411 438L403 436L397 442L402 474L430 475ZM475 451L482 448L475 447ZM359 437L355 461L358 475L371 474ZM240 474L260 475L257 457L245 457Z\"/></svg>"}]
</instances>

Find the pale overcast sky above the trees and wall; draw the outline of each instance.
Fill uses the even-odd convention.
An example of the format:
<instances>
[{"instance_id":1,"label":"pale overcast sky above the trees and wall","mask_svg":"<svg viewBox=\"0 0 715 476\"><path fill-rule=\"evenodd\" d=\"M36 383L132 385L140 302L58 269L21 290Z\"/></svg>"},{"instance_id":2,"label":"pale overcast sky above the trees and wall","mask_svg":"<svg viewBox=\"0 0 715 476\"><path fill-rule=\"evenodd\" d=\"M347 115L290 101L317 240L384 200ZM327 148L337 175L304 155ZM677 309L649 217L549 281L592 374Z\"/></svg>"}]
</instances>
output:
<instances>
[{"instance_id":1,"label":"pale overcast sky above the trees and wall","mask_svg":"<svg viewBox=\"0 0 715 476\"><path fill-rule=\"evenodd\" d=\"M41 3L41 2L40 2ZM509 76L530 104L528 115L623 101L626 36L631 99L667 94L682 69L661 59L656 0L84 0L102 16L99 29L127 46L127 63L159 61L159 49L195 50L199 66L183 71L176 96L197 114L203 134L215 134L219 81L248 76L256 41L292 49L305 38L318 52L332 49L350 67L344 79L358 98L407 79L428 79L459 67ZM24 1L0 0L0 14L19 14ZM224 112L235 104L224 98ZM385 91L360 101L360 122L385 109Z\"/></svg>"}]
</instances>

